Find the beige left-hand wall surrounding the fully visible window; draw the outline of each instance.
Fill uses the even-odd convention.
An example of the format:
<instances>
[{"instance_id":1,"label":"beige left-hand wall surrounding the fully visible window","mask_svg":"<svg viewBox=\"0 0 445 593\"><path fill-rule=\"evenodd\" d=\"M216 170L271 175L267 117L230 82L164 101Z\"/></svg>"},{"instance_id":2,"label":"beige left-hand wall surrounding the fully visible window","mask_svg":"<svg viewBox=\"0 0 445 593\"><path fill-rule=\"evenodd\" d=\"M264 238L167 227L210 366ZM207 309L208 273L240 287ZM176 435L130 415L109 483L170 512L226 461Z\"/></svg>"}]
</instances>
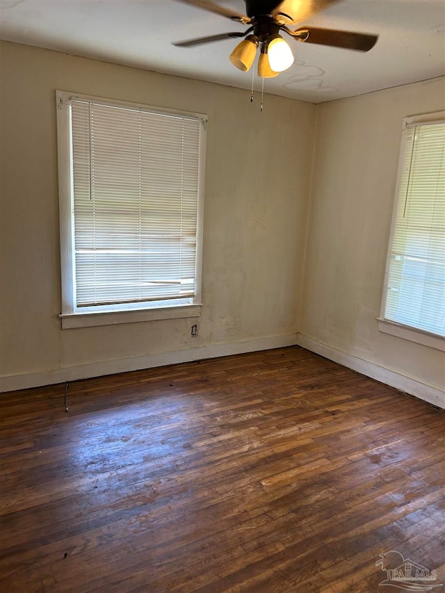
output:
<instances>
[{"instance_id":1,"label":"beige left-hand wall surrounding the fully visible window","mask_svg":"<svg viewBox=\"0 0 445 593\"><path fill-rule=\"evenodd\" d=\"M314 105L266 95L260 113L243 90L19 44L0 59L0 379L295 338ZM209 116L200 318L60 329L56 89Z\"/></svg>"}]
</instances>

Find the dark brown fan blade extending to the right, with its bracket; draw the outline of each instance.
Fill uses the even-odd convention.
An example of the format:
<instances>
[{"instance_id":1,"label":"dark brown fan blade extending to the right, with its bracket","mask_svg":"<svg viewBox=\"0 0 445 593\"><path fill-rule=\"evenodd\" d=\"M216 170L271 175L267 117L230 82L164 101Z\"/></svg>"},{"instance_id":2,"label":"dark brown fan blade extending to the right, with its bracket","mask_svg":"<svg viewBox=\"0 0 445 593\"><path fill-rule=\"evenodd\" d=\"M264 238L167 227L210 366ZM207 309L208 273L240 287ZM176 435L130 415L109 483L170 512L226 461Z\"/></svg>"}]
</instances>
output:
<instances>
[{"instance_id":1,"label":"dark brown fan blade extending to the right, with its bracket","mask_svg":"<svg viewBox=\"0 0 445 593\"><path fill-rule=\"evenodd\" d=\"M289 33L289 29L284 31ZM337 31L335 29L316 29L315 27L301 27L290 33L305 43L330 45L330 47L343 47L357 51L369 51L378 40L378 35L369 33L353 33L353 31Z\"/></svg>"}]
</instances>

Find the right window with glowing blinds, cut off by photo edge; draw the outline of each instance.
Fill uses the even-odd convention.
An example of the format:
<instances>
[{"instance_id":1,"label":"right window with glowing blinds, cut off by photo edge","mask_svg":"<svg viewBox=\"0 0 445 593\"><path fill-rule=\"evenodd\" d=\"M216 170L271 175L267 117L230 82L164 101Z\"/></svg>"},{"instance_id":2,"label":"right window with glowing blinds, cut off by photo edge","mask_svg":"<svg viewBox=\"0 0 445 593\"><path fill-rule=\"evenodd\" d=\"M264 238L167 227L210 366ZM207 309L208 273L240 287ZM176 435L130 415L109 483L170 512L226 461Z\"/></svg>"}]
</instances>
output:
<instances>
[{"instance_id":1,"label":"right window with glowing blinds, cut off by photo edge","mask_svg":"<svg viewBox=\"0 0 445 593\"><path fill-rule=\"evenodd\" d=\"M382 331L429 346L444 346L443 113L404 120L380 321L384 322L380 324Z\"/></svg>"}]
</instances>

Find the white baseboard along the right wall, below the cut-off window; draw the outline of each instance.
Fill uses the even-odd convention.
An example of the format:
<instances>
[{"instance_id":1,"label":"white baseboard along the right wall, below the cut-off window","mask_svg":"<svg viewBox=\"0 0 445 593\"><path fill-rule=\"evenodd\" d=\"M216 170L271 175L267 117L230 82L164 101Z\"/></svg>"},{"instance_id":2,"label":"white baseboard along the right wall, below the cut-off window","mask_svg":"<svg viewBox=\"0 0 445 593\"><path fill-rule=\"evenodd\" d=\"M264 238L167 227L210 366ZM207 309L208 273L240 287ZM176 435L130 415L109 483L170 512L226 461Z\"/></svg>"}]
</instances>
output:
<instances>
[{"instance_id":1,"label":"white baseboard along the right wall, below the cut-off window","mask_svg":"<svg viewBox=\"0 0 445 593\"><path fill-rule=\"evenodd\" d=\"M302 348L306 348L306 350L311 350L311 352L315 352L316 354L333 360L334 362L338 362L343 366L352 368L353 371L357 371L357 373L362 373L362 375L366 375L367 377L391 385L391 387L396 387L396 389L405 391L405 393L410 393L410 395L416 396L416 398L425 400L438 407L445 408L445 392L437 387L432 387L432 385L422 383L413 377L402 375L396 371L391 371L389 368L351 355L348 352L343 352L343 350L339 350L339 348L328 346L323 342L316 341L303 334L298 334L297 344Z\"/></svg>"}]
</instances>

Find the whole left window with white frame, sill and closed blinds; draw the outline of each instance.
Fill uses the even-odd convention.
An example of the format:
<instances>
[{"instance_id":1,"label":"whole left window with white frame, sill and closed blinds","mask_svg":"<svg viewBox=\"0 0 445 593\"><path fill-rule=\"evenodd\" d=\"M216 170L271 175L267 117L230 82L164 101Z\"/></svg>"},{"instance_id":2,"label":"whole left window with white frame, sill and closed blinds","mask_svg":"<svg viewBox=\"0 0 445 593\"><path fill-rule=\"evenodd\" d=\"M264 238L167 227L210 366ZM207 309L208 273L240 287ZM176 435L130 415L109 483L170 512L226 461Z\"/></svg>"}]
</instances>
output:
<instances>
[{"instance_id":1,"label":"whole left window with white frame, sill and closed blinds","mask_svg":"<svg viewBox=\"0 0 445 593\"><path fill-rule=\"evenodd\" d=\"M56 101L63 327L199 314L205 116Z\"/></svg>"}]
</instances>

